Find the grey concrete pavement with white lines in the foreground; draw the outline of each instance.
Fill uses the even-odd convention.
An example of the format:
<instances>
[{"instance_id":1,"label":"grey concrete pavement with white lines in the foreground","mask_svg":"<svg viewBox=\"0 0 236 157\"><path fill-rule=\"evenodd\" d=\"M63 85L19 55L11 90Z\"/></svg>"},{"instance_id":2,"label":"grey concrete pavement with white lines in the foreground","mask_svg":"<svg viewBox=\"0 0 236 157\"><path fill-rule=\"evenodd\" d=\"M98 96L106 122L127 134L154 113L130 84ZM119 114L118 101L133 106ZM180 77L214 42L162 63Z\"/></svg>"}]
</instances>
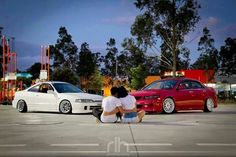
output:
<instances>
[{"instance_id":1,"label":"grey concrete pavement with white lines in the foreground","mask_svg":"<svg viewBox=\"0 0 236 157\"><path fill-rule=\"evenodd\" d=\"M137 124L0 105L0 156L236 156L236 104L212 113L148 114Z\"/></svg>"}]
</instances>

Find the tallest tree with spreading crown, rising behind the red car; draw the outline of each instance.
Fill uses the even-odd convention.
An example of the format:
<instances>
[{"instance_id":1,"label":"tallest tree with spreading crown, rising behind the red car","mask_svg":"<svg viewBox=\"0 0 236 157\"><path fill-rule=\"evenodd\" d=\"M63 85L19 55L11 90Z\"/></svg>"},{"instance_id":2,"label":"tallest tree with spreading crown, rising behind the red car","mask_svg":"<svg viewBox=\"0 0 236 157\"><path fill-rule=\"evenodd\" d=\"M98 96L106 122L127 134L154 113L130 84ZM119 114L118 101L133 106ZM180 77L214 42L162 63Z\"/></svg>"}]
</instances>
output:
<instances>
[{"instance_id":1,"label":"tallest tree with spreading crown, rising behind the red car","mask_svg":"<svg viewBox=\"0 0 236 157\"><path fill-rule=\"evenodd\" d=\"M137 0L135 5L143 14L136 17L131 28L132 35L154 51L158 51L158 38L162 39L171 51L172 69L176 76L178 49L184 42L184 36L194 29L200 19L200 5L195 0Z\"/></svg>"}]
</instances>

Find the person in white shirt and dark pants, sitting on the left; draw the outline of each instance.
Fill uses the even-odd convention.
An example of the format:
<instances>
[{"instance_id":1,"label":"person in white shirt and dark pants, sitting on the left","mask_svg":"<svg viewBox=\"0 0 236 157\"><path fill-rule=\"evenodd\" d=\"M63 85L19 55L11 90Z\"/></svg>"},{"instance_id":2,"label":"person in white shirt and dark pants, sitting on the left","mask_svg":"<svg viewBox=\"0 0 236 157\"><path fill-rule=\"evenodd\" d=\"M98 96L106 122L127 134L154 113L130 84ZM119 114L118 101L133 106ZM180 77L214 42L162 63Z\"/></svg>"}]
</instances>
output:
<instances>
[{"instance_id":1,"label":"person in white shirt and dark pants, sitting on the left","mask_svg":"<svg viewBox=\"0 0 236 157\"><path fill-rule=\"evenodd\" d=\"M121 113L133 112L134 109L124 110L122 108L120 100L118 97L118 88L112 87L111 96L108 96L102 101L102 110L94 108L92 111L93 116L95 116L99 121L103 123L115 123L118 120L120 111Z\"/></svg>"}]
</instances>

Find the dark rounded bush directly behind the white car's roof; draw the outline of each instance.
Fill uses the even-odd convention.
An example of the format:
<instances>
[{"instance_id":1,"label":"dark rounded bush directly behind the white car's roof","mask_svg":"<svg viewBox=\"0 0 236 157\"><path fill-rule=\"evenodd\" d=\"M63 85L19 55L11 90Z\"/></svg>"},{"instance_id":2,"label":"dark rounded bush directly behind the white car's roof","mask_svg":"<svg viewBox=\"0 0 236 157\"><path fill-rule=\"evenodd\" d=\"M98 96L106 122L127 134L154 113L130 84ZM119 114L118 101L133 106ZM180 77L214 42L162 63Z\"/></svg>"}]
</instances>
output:
<instances>
[{"instance_id":1,"label":"dark rounded bush directly behind the white car's roof","mask_svg":"<svg viewBox=\"0 0 236 157\"><path fill-rule=\"evenodd\" d=\"M76 74L69 68L56 69L52 76L54 81L69 82L73 85L79 84L79 79Z\"/></svg>"}]
</instances>

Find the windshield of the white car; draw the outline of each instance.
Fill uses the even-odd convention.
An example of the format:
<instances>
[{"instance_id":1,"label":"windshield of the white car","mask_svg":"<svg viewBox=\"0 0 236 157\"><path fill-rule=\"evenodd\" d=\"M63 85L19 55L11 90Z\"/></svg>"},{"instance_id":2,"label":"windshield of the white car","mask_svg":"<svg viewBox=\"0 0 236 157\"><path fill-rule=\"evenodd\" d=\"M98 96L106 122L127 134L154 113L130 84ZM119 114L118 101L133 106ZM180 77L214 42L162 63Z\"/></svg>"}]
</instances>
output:
<instances>
[{"instance_id":1,"label":"windshield of the white car","mask_svg":"<svg viewBox=\"0 0 236 157\"><path fill-rule=\"evenodd\" d=\"M69 83L53 83L54 88L58 93L82 93L78 87Z\"/></svg>"}]
</instances>

